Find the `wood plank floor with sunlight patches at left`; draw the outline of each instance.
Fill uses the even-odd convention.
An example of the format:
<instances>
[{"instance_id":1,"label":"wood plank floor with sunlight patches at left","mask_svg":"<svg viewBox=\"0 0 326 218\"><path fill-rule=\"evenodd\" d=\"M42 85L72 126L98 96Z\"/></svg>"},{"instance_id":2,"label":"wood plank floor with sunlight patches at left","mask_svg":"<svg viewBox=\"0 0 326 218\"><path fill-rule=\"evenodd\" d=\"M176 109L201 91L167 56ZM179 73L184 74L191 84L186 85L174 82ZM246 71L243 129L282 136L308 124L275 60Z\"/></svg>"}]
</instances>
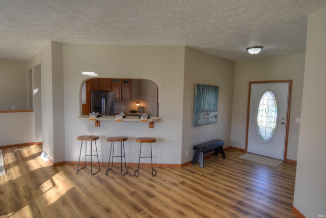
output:
<instances>
[{"instance_id":1,"label":"wood plank floor with sunlight patches at left","mask_svg":"<svg viewBox=\"0 0 326 218\"><path fill-rule=\"evenodd\" d=\"M75 165L53 168L41 146L2 149L0 217L296 217L291 212L295 165L267 167L227 150L204 168L141 167L139 177L106 166L76 175Z\"/></svg>"}]
</instances>

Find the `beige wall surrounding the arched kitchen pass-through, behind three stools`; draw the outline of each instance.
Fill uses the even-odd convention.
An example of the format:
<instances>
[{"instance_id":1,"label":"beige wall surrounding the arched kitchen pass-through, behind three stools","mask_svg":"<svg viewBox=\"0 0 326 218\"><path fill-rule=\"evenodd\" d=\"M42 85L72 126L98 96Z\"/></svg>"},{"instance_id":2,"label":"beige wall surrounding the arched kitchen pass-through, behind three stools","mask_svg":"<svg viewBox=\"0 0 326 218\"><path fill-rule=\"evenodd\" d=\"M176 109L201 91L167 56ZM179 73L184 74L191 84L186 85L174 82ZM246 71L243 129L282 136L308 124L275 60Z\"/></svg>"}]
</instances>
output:
<instances>
[{"instance_id":1,"label":"beige wall surrounding the arched kitchen pass-through, behind three stools","mask_svg":"<svg viewBox=\"0 0 326 218\"><path fill-rule=\"evenodd\" d=\"M78 135L97 134L100 135L97 142L100 161L108 161L110 151L106 138L126 135L129 137L125 143L127 162L138 161L140 145L135 143L135 138L155 137L153 161L181 163L184 46L64 44L63 58L66 161L78 160ZM89 78L82 75L82 71L94 71L99 77L106 78L155 81L161 94L161 121L155 122L154 128L148 128L147 123L141 122L102 121L100 127L95 127L92 121L78 120L80 86Z\"/></svg>"}]
</instances>

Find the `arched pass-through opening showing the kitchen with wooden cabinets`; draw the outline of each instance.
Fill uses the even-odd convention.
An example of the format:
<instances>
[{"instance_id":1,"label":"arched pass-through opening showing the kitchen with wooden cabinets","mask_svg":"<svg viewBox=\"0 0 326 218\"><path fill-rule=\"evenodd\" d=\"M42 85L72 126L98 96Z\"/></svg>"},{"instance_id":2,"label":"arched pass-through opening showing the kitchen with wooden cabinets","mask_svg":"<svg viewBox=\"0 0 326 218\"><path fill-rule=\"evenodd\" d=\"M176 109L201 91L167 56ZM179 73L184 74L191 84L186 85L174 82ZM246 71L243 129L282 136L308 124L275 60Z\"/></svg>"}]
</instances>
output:
<instances>
[{"instance_id":1,"label":"arched pass-through opening showing the kitchen with wooden cabinets","mask_svg":"<svg viewBox=\"0 0 326 218\"><path fill-rule=\"evenodd\" d=\"M146 113L153 117L158 116L159 89L152 80L122 78L87 79L80 86L80 115L89 115L89 113L95 112L96 108L98 109L101 106L94 105L95 97L93 96L92 99L93 91L115 93L115 114L123 111L128 116L140 113Z\"/></svg>"}]
</instances>

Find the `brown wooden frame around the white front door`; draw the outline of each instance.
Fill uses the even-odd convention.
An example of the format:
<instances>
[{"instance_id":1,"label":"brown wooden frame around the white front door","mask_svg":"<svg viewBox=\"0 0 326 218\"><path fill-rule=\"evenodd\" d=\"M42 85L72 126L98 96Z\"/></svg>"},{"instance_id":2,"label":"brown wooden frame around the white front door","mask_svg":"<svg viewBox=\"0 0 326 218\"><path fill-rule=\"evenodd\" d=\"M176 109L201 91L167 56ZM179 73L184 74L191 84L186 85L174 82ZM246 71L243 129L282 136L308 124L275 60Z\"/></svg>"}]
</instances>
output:
<instances>
[{"instance_id":1,"label":"brown wooden frame around the white front door","mask_svg":"<svg viewBox=\"0 0 326 218\"><path fill-rule=\"evenodd\" d=\"M285 142L284 142L284 157L283 161L289 162L287 159L287 144L289 139L289 125L290 125L290 109L291 109L291 94L292 94L292 79L285 80L266 80L266 81L250 81L249 91L248 91L248 104L247 104L247 125L246 125L246 148L244 152L247 153L248 150L248 131L249 131L249 113L250 113L250 95L251 95L251 85L252 84L267 84L267 83L289 83L289 93L287 100L287 116L286 116L286 130L285 130Z\"/></svg>"}]
</instances>

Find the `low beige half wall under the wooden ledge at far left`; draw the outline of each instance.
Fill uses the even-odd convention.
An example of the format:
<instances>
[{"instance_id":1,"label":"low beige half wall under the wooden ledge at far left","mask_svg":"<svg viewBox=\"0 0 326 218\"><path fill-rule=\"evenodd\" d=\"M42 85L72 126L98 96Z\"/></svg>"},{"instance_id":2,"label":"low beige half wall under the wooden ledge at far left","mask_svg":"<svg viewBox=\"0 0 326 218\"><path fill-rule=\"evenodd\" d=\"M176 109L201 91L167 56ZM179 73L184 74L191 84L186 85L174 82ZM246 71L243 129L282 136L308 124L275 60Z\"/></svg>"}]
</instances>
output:
<instances>
[{"instance_id":1,"label":"low beige half wall under the wooden ledge at far left","mask_svg":"<svg viewBox=\"0 0 326 218\"><path fill-rule=\"evenodd\" d=\"M0 113L0 146L35 142L34 112Z\"/></svg>"}]
</instances>

